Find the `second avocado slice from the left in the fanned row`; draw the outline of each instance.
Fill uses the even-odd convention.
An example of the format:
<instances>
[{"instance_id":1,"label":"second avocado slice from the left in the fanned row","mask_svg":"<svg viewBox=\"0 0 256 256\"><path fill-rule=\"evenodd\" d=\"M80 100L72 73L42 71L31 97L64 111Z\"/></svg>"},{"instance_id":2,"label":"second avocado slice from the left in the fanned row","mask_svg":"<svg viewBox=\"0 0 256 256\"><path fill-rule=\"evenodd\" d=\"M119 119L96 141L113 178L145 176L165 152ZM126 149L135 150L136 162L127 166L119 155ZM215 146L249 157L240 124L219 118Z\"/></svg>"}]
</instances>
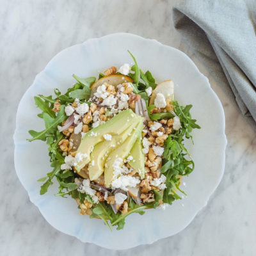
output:
<instances>
[{"instance_id":1,"label":"second avocado slice from the left in the fanned row","mask_svg":"<svg viewBox=\"0 0 256 256\"><path fill-rule=\"evenodd\" d=\"M138 125L138 120L132 120L132 124L120 135L113 135L111 141L101 141L93 148L91 154L91 163L89 164L89 176L90 180L96 180L104 172L104 164L108 155L119 147L121 143L127 139L129 134L131 135L134 127ZM92 164L92 161L93 164Z\"/></svg>"}]
</instances>

